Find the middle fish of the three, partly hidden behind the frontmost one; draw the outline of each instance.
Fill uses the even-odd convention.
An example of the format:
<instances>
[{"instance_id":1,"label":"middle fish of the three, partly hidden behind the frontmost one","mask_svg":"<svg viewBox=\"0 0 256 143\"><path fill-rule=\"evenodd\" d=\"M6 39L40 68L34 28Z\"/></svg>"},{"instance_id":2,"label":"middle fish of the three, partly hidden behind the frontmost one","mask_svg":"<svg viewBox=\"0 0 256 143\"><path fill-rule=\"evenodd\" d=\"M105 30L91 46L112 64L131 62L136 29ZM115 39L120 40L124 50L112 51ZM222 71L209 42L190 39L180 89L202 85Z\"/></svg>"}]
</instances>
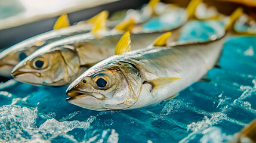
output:
<instances>
[{"instance_id":1,"label":"middle fish of the three, partly hidden behind the frontmost one","mask_svg":"<svg viewBox=\"0 0 256 143\"><path fill-rule=\"evenodd\" d=\"M126 30L136 29L136 27L132 27L134 27L134 20L131 19L118 24L111 31L104 31L104 20L100 19L91 29L91 33L53 42L29 55L14 67L12 75L20 82L32 85L67 85L95 63L110 57L122 34ZM177 27L171 27L168 31L174 29ZM132 49L150 45L156 37L164 32L166 31L143 32L137 30L131 34L131 39L134 41Z\"/></svg>"}]
</instances>

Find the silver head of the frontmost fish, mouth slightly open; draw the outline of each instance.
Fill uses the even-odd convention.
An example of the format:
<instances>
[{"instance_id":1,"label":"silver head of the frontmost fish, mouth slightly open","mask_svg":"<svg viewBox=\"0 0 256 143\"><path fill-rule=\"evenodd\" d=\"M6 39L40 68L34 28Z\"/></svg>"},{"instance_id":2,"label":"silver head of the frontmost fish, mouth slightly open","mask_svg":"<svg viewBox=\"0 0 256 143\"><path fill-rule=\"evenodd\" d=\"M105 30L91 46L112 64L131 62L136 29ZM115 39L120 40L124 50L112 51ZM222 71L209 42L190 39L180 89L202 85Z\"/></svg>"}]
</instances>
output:
<instances>
[{"instance_id":1,"label":"silver head of the frontmost fish, mouth slightly open","mask_svg":"<svg viewBox=\"0 0 256 143\"><path fill-rule=\"evenodd\" d=\"M70 84L67 101L98 111L124 110L134 105L141 90L141 77L135 66L122 61L99 64Z\"/></svg>"}]
</instances>

